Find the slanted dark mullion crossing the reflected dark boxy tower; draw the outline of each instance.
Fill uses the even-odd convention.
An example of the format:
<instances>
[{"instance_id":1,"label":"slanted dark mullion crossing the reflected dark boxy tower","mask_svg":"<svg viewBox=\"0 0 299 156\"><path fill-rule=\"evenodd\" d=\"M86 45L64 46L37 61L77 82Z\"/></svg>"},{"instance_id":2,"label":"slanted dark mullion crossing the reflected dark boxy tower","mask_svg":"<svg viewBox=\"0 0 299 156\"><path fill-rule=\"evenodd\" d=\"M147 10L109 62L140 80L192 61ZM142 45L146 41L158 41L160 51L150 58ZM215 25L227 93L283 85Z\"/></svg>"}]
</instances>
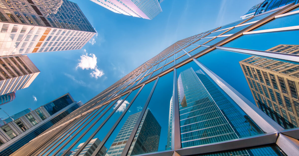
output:
<instances>
[{"instance_id":1,"label":"slanted dark mullion crossing the reflected dark boxy tower","mask_svg":"<svg viewBox=\"0 0 299 156\"><path fill-rule=\"evenodd\" d=\"M121 153L120 156L126 156L127 153L129 152L129 149L130 149L130 146L131 146L131 144L132 144L132 141L133 141L133 139L134 139L134 137L135 137L135 134L136 134L136 132L137 132L137 129L138 129L138 127L139 127L139 124L141 123L141 120L142 120L142 118L143 118L143 115L144 115L144 113L145 113L145 111L146 111L146 109L147 109L147 106L148 106L148 104L149 104L149 101L150 101L150 99L152 98L152 93L154 92L154 90L155 90L155 88L156 88L156 85L157 85L157 83L158 83L159 78L160 78L160 77L158 76L157 79L156 79L156 81L155 81L154 86L152 87L151 92L149 93L149 96L148 96L148 98L147 98L147 101L145 102L145 104L144 104L144 106L143 106L143 109L142 109L142 111L140 112L139 118L137 119L137 121L136 121L136 123L135 123L135 126L134 126L134 128L133 128L133 130L132 130L132 132L131 132L131 135L130 135L129 139L127 140L127 143L126 143L126 145L125 145L125 147L124 147L124 149L123 149L123 152ZM91 156L95 156L95 153L93 153Z\"/></svg>"}]
</instances>

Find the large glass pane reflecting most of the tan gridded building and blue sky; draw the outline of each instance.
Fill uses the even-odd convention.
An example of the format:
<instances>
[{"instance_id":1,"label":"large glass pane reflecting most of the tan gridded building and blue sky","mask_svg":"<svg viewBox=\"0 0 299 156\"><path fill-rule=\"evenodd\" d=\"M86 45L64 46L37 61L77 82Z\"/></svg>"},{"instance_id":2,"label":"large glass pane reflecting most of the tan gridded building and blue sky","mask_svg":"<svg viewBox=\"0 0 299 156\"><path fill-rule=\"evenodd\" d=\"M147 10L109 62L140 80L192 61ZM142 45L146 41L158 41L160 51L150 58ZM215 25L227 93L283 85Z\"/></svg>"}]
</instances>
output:
<instances>
[{"instance_id":1,"label":"large glass pane reflecting most of the tan gridded building and blue sky","mask_svg":"<svg viewBox=\"0 0 299 156\"><path fill-rule=\"evenodd\" d=\"M295 127L289 117L289 114L295 116L298 121L298 115L291 111L295 109L295 105L289 104L292 109L287 107L288 104L283 100L283 96L289 98L289 101L298 100L295 95L299 93L299 78L291 76L296 73L296 67L299 70L298 63L291 62L293 66L276 71L272 69L283 67L290 62L224 50L214 50L198 60L280 126L285 129ZM279 65L274 66L277 63ZM284 81L280 83L279 79ZM291 80L291 85L288 84L288 80ZM285 114L287 118L283 117Z\"/></svg>"}]
</instances>

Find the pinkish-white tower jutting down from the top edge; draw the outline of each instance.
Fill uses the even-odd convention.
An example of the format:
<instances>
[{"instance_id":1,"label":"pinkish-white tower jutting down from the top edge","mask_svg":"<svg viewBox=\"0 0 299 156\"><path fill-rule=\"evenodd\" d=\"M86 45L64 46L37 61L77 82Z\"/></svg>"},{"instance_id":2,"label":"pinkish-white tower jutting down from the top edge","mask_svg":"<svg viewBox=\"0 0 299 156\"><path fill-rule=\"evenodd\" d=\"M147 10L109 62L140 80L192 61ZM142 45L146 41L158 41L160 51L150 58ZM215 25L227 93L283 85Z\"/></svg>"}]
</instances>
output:
<instances>
[{"instance_id":1,"label":"pinkish-white tower jutting down from the top edge","mask_svg":"<svg viewBox=\"0 0 299 156\"><path fill-rule=\"evenodd\" d=\"M160 3L163 0L91 0L115 13L128 16L153 19L162 12Z\"/></svg>"}]
</instances>

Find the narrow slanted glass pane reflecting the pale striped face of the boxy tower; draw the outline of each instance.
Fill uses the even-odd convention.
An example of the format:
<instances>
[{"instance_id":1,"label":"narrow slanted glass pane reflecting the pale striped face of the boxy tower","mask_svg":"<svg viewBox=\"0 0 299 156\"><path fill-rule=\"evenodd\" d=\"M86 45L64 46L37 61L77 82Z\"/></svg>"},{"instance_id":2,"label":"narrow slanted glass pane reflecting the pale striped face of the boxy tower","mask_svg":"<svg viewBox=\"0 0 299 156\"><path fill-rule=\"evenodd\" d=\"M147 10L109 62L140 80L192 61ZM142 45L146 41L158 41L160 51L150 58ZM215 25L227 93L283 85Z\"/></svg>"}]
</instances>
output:
<instances>
[{"instance_id":1,"label":"narrow slanted glass pane reflecting the pale striped face of the boxy tower","mask_svg":"<svg viewBox=\"0 0 299 156\"><path fill-rule=\"evenodd\" d=\"M133 101L126 114L118 123L118 126L116 126L116 128L104 144L105 147L102 147L100 152L104 149L107 149L107 156L120 155L121 152L123 152L126 142L132 133L132 130L137 122L137 119L140 116L141 110L143 109L143 106L147 101L147 97L149 96L149 93L151 92L154 84L155 81L152 81L144 86L144 88L136 97L135 101ZM149 147L145 148L149 150ZM98 154L101 154L100 152Z\"/></svg>"}]
</instances>

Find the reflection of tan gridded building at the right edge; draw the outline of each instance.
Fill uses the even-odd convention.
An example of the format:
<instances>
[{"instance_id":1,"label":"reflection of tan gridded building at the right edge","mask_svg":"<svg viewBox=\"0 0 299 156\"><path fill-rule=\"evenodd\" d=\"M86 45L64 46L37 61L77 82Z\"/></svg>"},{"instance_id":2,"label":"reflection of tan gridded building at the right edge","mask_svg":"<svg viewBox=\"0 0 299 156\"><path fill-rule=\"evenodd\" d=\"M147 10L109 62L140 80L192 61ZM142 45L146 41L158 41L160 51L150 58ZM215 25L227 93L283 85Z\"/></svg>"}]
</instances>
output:
<instances>
[{"instance_id":1,"label":"reflection of tan gridded building at the right edge","mask_svg":"<svg viewBox=\"0 0 299 156\"><path fill-rule=\"evenodd\" d=\"M294 47L282 45L267 51L287 52ZM257 107L284 128L298 127L299 65L257 56L239 63Z\"/></svg>"}]
</instances>

